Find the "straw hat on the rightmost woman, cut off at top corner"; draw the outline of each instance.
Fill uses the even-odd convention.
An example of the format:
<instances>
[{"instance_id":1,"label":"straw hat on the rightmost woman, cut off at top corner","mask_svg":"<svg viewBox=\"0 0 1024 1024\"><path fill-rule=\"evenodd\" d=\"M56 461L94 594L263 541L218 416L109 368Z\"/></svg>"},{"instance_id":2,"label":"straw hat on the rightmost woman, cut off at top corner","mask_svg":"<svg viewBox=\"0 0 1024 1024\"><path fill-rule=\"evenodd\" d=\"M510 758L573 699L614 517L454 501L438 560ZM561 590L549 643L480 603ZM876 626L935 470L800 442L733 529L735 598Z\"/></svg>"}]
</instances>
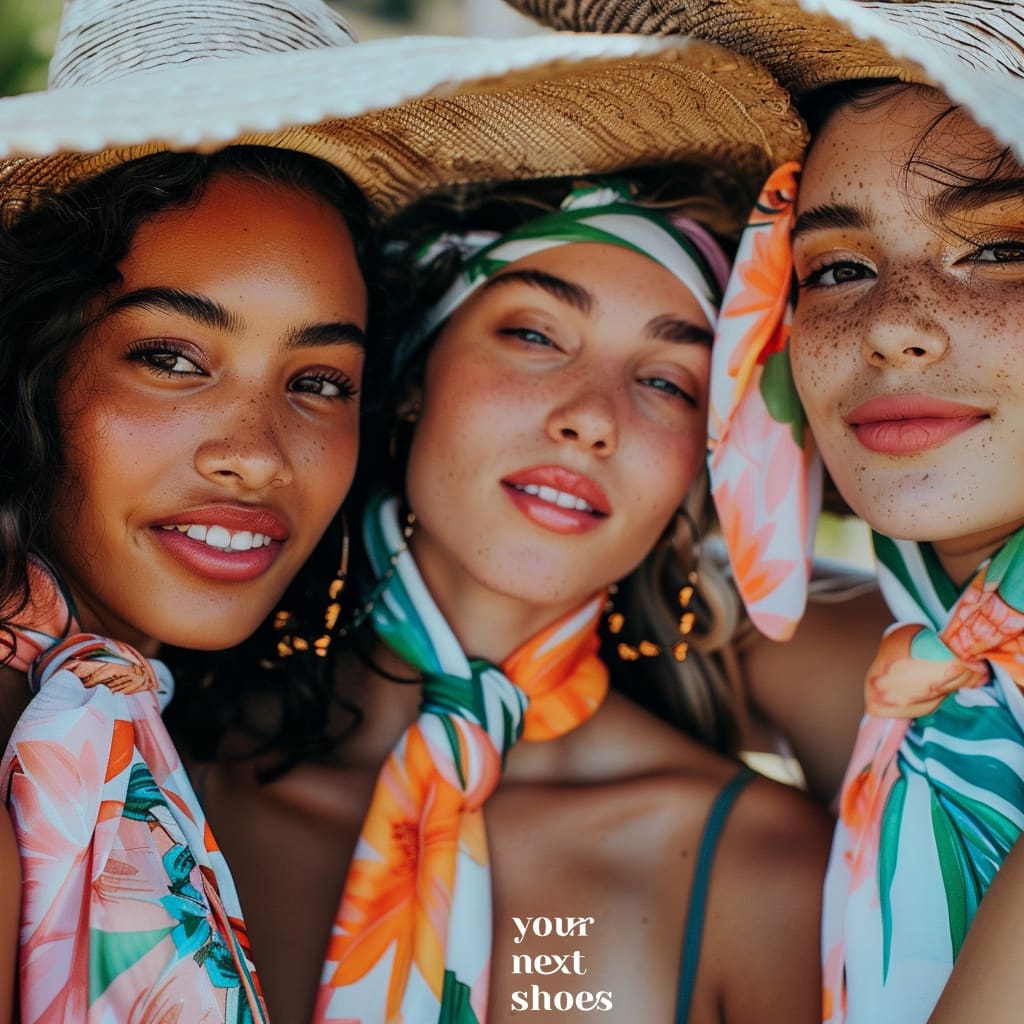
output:
<instances>
[{"instance_id":1,"label":"straw hat on the rightmost woman, cut off at top corner","mask_svg":"<svg viewBox=\"0 0 1024 1024\"><path fill-rule=\"evenodd\" d=\"M683 34L764 63L798 98L840 81L943 89L1024 159L1024 0L508 0L579 32Z\"/></svg>"}]
</instances>

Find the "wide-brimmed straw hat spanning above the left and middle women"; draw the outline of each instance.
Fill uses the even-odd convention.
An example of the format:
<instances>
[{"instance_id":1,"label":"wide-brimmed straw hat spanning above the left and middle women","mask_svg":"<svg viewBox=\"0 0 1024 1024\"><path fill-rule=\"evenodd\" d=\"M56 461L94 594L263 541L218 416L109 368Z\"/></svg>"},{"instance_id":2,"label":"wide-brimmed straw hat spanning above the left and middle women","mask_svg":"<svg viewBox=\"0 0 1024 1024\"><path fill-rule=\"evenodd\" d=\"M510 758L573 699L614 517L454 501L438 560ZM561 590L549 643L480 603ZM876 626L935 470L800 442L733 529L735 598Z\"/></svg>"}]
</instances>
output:
<instances>
[{"instance_id":1,"label":"wide-brimmed straw hat spanning above the left and middle women","mask_svg":"<svg viewBox=\"0 0 1024 1024\"><path fill-rule=\"evenodd\" d=\"M457 183L694 158L756 187L804 138L767 72L701 41L355 44L322 0L67 0L49 88L0 100L0 202L231 143L321 157L381 213Z\"/></svg>"}]
</instances>

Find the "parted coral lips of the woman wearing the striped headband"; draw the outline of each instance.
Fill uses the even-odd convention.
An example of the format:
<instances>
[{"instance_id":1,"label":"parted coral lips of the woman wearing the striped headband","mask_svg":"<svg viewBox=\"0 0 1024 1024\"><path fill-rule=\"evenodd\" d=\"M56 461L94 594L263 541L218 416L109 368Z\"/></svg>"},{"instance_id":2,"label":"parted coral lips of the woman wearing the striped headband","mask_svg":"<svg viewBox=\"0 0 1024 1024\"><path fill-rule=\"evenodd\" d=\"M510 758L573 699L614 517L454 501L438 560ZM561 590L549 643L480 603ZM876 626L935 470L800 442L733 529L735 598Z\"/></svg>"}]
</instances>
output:
<instances>
[{"instance_id":1,"label":"parted coral lips of the woman wearing the striped headband","mask_svg":"<svg viewBox=\"0 0 1024 1024\"><path fill-rule=\"evenodd\" d=\"M583 534L611 514L611 505L590 477L561 466L534 466L502 480L527 519L556 534Z\"/></svg>"}]
</instances>

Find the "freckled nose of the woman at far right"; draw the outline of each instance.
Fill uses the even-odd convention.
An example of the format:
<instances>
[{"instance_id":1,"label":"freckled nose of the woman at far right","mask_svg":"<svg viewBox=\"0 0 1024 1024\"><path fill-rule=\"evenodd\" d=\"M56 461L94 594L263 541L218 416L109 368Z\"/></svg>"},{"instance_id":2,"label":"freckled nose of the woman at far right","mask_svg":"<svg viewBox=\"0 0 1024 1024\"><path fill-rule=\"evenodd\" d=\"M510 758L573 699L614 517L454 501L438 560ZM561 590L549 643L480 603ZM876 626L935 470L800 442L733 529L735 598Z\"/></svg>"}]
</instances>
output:
<instances>
[{"instance_id":1,"label":"freckled nose of the woman at far right","mask_svg":"<svg viewBox=\"0 0 1024 1024\"><path fill-rule=\"evenodd\" d=\"M865 362L879 369L924 367L942 358L949 332L929 311L928 295L920 279L913 291L898 281L879 282L861 342Z\"/></svg>"}]
</instances>

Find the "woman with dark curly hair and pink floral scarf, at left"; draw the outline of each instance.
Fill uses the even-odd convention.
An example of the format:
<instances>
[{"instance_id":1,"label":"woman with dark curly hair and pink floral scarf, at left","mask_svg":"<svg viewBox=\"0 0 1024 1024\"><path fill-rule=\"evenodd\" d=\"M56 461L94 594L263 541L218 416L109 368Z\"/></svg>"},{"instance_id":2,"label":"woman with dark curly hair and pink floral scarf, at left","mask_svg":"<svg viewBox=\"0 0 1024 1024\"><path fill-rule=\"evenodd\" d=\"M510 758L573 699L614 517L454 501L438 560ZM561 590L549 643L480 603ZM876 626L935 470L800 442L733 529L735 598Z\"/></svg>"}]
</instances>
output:
<instances>
[{"instance_id":1,"label":"woman with dark curly hair and pink floral scarf, at left","mask_svg":"<svg viewBox=\"0 0 1024 1024\"><path fill-rule=\"evenodd\" d=\"M237 897L163 727L173 680L155 655L245 641L337 515L358 439L366 216L328 165L237 146L126 163L0 240L6 465L20 543L35 536L7 552L0 670L24 878L17 1019L86 1019L75 965L97 957L97 1012L169 1000L209 1016L239 997L260 1012L244 928L204 915ZM33 502L49 506L38 522ZM174 937L197 918L199 959ZM67 971L44 980L53 957Z\"/></svg>"}]
</instances>

